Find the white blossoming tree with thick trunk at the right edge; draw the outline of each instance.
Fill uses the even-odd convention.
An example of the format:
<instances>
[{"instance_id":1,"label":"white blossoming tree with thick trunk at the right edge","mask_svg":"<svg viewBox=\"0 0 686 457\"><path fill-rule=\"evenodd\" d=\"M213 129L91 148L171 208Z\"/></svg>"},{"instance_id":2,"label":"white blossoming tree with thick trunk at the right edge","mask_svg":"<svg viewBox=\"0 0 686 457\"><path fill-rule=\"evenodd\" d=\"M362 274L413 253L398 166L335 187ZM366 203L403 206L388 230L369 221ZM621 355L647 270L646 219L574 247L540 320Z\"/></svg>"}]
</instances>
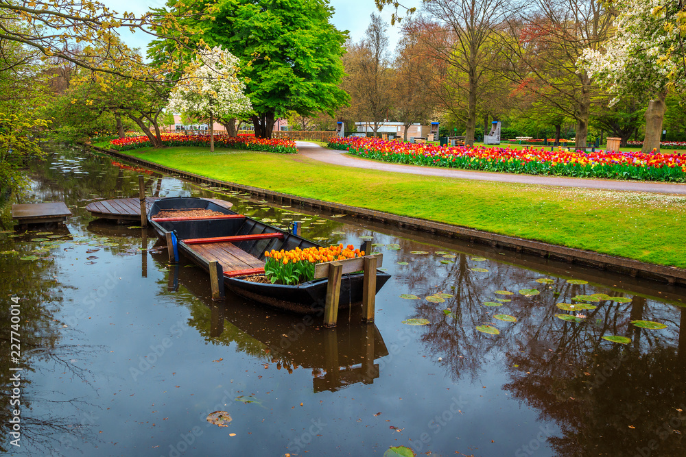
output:
<instances>
[{"instance_id":1,"label":"white blossoming tree with thick trunk at the right edge","mask_svg":"<svg viewBox=\"0 0 686 457\"><path fill-rule=\"evenodd\" d=\"M604 53L586 49L582 68L615 95L648 102L643 152L660 149L667 92L686 93L686 7L674 0L624 0Z\"/></svg>"}]
</instances>

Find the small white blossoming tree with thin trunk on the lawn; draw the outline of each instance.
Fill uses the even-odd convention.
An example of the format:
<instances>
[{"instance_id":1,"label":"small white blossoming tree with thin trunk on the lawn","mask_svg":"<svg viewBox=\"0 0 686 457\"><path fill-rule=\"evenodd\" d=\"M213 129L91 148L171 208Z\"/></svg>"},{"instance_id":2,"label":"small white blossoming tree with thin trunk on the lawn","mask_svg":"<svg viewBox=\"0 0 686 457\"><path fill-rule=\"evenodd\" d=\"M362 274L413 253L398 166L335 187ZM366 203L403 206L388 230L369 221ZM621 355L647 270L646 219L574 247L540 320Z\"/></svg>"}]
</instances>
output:
<instances>
[{"instance_id":1,"label":"small white blossoming tree with thin trunk on the lawn","mask_svg":"<svg viewBox=\"0 0 686 457\"><path fill-rule=\"evenodd\" d=\"M214 119L244 117L252 111L245 84L236 76L239 60L220 47L198 54L171 90L167 111L209 119L210 151L214 151Z\"/></svg>"}]
</instances>

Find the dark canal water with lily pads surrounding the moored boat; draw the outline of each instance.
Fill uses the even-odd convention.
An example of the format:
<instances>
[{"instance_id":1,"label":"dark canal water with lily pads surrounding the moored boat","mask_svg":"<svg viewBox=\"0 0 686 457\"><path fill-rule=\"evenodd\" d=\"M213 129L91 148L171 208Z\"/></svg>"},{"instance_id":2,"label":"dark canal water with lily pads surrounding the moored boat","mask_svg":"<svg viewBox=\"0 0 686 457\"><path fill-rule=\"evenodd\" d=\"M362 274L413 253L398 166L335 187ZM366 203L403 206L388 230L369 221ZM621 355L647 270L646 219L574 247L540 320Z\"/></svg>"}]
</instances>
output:
<instances>
[{"instance_id":1,"label":"dark canal water with lily pads surrounding the moored boat","mask_svg":"<svg viewBox=\"0 0 686 457\"><path fill-rule=\"evenodd\" d=\"M304 221L303 235L322 243L373 236L393 275L375 325L353 310L325 330L232 295L213 303L205 273L170 267L152 230L93 220L88 201L137 196L139 171L111 162L54 150L18 200L65 201L67 227L0 234L3 452L357 456L404 445L441 456L686 455L683 289L147 175L149 193L225 198L284 226ZM11 228L7 208L2 221ZM425 299L436 293L445 301ZM576 314L556 304L595 293L627 300L592 303L578 323L556 317ZM19 364L10 294L21 299ZM631 342L602 339L610 335ZM11 443L11 367L23 367L21 447ZM228 426L206 421L217 410Z\"/></svg>"}]
</instances>

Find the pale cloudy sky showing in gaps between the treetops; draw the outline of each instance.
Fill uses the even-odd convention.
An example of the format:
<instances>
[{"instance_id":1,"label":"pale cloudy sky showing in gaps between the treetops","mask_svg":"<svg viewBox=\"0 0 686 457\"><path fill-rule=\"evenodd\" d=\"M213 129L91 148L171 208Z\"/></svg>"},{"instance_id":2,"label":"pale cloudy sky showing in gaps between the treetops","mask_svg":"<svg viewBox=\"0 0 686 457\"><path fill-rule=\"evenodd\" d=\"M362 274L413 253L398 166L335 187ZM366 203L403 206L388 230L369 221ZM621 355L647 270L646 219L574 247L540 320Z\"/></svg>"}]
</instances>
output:
<instances>
[{"instance_id":1,"label":"pale cloudy sky showing in gaps between the treetops","mask_svg":"<svg viewBox=\"0 0 686 457\"><path fill-rule=\"evenodd\" d=\"M101 0L109 8L117 12L134 12L142 14L150 8L161 8L166 0ZM349 30L350 36L355 41L359 41L364 36L364 31L369 25L369 15L376 12L374 0L329 0L335 9L333 14L333 25L339 30ZM407 6L418 5L418 0L410 0ZM390 38L390 49L394 51L399 40L398 25L390 25L392 8L387 7L381 13L381 17L388 23L388 36ZM141 34L131 34L123 32L122 38L132 47L145 48L149 41L149 36Z\"/></svg>"}]
</instances>

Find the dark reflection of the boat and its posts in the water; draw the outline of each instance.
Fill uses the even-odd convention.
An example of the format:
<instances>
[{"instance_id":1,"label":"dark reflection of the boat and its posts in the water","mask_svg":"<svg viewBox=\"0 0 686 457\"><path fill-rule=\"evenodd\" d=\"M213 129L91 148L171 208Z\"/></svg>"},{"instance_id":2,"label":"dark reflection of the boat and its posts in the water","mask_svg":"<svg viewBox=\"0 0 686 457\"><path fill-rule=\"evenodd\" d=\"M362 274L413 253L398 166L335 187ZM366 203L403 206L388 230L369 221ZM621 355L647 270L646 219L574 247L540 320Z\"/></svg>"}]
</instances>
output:
<instances>
[{"instance_id":1,"label":"dark reflection of the boat and its posts in the water","mask_svg":"<svg viewBox=\"0 0 686 457\"><path fill-rule=\"evenodd\" d=\"M153 258L167 262L167 254ZM198 298L193 300L189 323L206 340L225 345L233 341L239 350L275 363L278 369L311 369L314 392L338 391L358 382L373 384L379 378L375 360L388 356L388 349L377 326L362 323L360 310L351 309L350 319L341 316L335 328L325 329L318 314L273 310L230 291L223 301L212 301L206 273L198 267L185 268L189 265L171 265L166 293L187 289Z\"/></svg>"}]
</instances>

